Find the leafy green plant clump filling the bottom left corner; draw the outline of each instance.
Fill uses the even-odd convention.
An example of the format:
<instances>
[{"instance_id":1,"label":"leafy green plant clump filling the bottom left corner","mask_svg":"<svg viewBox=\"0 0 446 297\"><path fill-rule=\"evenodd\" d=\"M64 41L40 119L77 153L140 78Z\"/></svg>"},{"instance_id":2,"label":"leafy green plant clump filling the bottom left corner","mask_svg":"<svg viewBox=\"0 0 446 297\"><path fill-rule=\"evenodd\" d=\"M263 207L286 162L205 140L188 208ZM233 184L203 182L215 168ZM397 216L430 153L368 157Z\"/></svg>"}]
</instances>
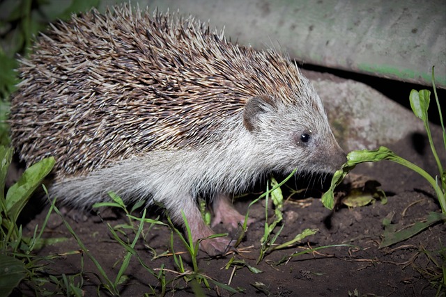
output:
<instances>
[{"instance_id":1,"label":"leafy green plant clump filling the bottom left corner","mask_svg":"<svg viewBox=\"0 0 446 297\"><path fill-rule=\"evenodd\" d=\"M33 250L45 244L66 240L65 238L42 238L52 208L49 209L40 231L36 225L31 237L23 236L22 226L17 223L31 194L52 170L54 159L51 157L43 159L26 169L18 182L10 186L5 196L6 173L12 156L12 148L0 146L0 287L2 294L8 296L20 282L26 281L33 284L31 287L36 290L36 295L41 295L44 291L49 294L43 284L51 283L54 287L52 291L54 294L63 292L66 296L76 296L79 293L78 287L74 283L75 278L77 279L76 275L61 275L60 278L51 275L49 279L43 280L43 275L47 274L43 271L43 263L52 257L33 255ZM69 283L70 280L73 282Z\"/></svg>"}]
</instances>

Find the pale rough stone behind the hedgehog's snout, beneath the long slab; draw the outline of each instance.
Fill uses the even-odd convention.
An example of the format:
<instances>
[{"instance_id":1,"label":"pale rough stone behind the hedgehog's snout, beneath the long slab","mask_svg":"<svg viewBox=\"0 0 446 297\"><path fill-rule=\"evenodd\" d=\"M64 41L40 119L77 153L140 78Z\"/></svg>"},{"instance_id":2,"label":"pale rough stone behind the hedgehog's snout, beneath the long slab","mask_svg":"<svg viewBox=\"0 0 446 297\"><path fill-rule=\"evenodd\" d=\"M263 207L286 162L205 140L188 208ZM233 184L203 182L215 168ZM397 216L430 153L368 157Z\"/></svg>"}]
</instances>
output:
<instances>
[{"instance_id":1,"label":"pale rough stone behind the hedgehog's snout, beneath the long slab","mask_svg":"<svg viewBox=\"0 0 446 297\"><path fill-rule=\"evenodd\" d=\"M309 73L323 99L339 145L346 151L373 150L396 143L408 134L423 132L413 112L364 83L330 74ZM401 94L409 99L409 94Z\"/></svg>"}]
</instances>

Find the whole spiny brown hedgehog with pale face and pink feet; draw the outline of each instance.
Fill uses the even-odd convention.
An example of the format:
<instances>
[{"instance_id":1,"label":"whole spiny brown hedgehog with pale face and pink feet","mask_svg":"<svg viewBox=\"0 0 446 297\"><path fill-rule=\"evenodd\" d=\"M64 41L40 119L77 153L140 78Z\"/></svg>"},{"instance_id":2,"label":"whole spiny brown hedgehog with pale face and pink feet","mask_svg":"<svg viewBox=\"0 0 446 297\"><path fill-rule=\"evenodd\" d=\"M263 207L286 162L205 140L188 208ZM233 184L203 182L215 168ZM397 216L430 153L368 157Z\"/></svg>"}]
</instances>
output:
<instances>
[{"instance_id":1,"label":"whole spiny brown hedgehog with pale face and pink feet","mask_svg":"<svg viewBox=\"0 0 446 297\"><path fill-rule=\"evenodd\" d=\"M160 203L183 227L184 214L208 255L233 245L209 239L211 227L245 220L233 195L270 172L327 175L346 161L289 56L233 43L194 17L93 8L50 25L19 71L10 135L26 164L56 158L50 195L84 210L109 191ZM197 198L212 204L210 227Z\"/></svg>"}]
</instances>

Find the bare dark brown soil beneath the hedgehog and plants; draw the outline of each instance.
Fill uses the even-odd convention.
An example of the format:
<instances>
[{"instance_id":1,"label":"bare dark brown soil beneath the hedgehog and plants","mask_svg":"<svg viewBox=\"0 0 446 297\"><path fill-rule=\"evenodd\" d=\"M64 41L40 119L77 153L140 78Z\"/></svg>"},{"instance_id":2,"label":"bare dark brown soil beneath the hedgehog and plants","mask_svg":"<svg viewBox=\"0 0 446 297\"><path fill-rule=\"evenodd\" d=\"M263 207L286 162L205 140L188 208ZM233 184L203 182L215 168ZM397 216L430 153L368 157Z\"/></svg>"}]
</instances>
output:
<instances>
[{"instance_id":1,"label":"bare dark brown soil beneath the hedgehog and plants","mask_svg":"<svg viewBox=\"0 0 446 297\"><path fill-rule=\"evenodd\" d=\"M440 130L433 129L436 143L441 144ZM385 144L383 144L385 145ZM435 173L436 164L431 157L428 141L424 136L408 136L399 143L390 145L397 154L417 163L431 174ZM444 163L444 159L443 159ZM201 273L210 278L228 284L243 293L236 296L435 296L436 290L431 287L430 278L440 273L440 267L433 264L429 257L433 257L438 264L443 264L440 250L445 255L446 225L433 225L424 232L412 238L397 243L389 248L378 248L382 241L383 218L394 214L392 223L399 228L406 227L417 221L424 220L429 211L440 211L433 189L415 172L388 161L375 163L373 166L358 166L353 173L353 179L376 180L380 188L387 194L387 204L376 201L364 207L338 207L329 211L321 203L321 182L312 179L314 188L293 196L284 204L284 229L277 239L282 243L307 228L319 231L307 237L300 245L292 248L277 250L256 264L259 256L260 239L263 235L265 223L264 202L254 204L249 211L255 222L247 230L244 241L239 248L247 248L247 252L235 255L250 266L258 268L261 273L252 273L247 267L234 266L225 268L233 255L210 259L203 252L199 254L199 268ZM277 179L280 179L277 177ZM325 181L325 185L329 181ZM301 187L302 183L291 181L289 185ZM304 183L305 184L305 183ZM260 185L262 187L262 185ZM348 189L344 182L339 193ZM339 194L338 194L339 195ZM258 195L240 199L236 208L240 212L247 209L249 202ZM47 208L43 209L24 227L27 235L32 234L33 228L42 225ZM137 213L136 215L141 215ZM152 218L156 214L152 211ZM100 262L110 278L115 278L118 268L125 256L125 250L112 239L107 224L112 226L125 223L123 213L104 211L101 216L93 215L85 222L75 222L66 217L76 234L82 239L86 248ZM166 221L165 218L162 220ZM277 227L277 230L279 227ZM224 232L222 229L217 231ZM52 246L45 246L39 251L40 255L61 255L49 263L47 269L54 273L78 273L81 269L82 254L65 255L66 252L79 250L75 239L72 238L61 219L52 214L45 237L66 236L68 241ZM146 234L146 243L160 255L170 250L171 232L167 227L154 227ZM175 237L174 250L184 252L183 244ZM289 258L284 264L276 265L282 257L288 257L295 251L318 246L347 243L355 247L341 246L318 250L308 255ZM178 271L171 256L153 259L153 250L147 248L140 240L136 250L151 268L165 268ZM426 254L425 251L429 253ZM429 256L429 257L428 257ZM186 269L191 270L190 257L183 254ZM98 270L88 257L84 255L84 296L97 295ZM444 266L444 264L443 264ZM125 272L129 279L121 285L121 296L143 296L151 291L149 286L160 287L157 280L147 273L145 268L132 259ZM166 278L171 280L177 275L167 271ZM259 285L263 284L263 289ZM203 289L206 296L230 296L223 289ZM169 284L167 296L193 296L190 284L185 284L182 278ZM22 284L22 294L31 296L26 284ZM357 293L354 291L357 290ZM351 292L351 295L349 295ZM445 292L443 292L444 296ZM107 296L105 290L102 296Z\"/></svg>"}]
</instances>

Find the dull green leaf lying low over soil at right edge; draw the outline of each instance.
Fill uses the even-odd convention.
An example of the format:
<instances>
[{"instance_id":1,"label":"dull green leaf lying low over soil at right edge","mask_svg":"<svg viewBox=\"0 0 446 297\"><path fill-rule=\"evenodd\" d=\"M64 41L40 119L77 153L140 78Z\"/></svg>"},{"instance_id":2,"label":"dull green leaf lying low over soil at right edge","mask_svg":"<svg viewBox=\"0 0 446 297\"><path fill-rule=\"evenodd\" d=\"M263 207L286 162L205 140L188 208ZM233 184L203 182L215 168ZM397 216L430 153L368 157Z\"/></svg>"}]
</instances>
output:
<instances>
[{"instance_id":1,"label":"dull green leaf lying low over soil at right edge","mask_svg":"<svg viewBox=\"0 0 446 297\"><path fill-rule=\"evenodd\" d=\"M395 225L392 224L385 225L385 231L383 233L384 239L383 242L380 244L379 248L392 246L392 244L399 243L401 241L409 239L410 237L415 236L416 234L422 232L427 227L442 220L446 220L446 214L431 212L429 213L429 216L427 217L425 222L417 222L414 225L397 232L394 232L394 230L396 229Z\"/></svg>"}]
</instances>

